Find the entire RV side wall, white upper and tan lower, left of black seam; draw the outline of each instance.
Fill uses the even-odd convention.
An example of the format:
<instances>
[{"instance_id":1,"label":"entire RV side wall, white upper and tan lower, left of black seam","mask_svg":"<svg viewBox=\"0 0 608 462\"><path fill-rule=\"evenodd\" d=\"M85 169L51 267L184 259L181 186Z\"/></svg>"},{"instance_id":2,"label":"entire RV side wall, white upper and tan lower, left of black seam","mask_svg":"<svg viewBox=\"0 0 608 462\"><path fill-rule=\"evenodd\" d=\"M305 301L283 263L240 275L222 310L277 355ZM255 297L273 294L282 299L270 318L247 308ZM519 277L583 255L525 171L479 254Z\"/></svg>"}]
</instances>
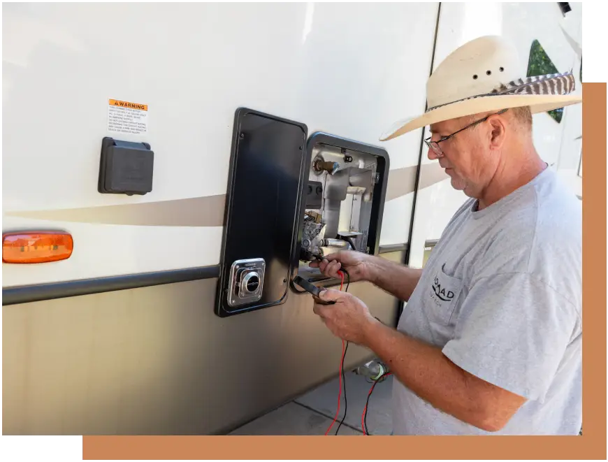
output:
<instances>
[{"instance_id":1,"label":"entire RV side wall, white upper and tan lower, left of black seam","mask_svg":"<svg viewBox=\"0 0 608 462\"><path fill-rule=\"evenodd\" d=\"M217 265L236 108L378 145L387 125L424 110L438 8L3 3L0 39L13 45L0 49L0 152L10 153L0 169L2 228L74 238L67 261L3 265L3 289ZM145 105L145 132L110 131L110 100ZM103 136L150 143L152 192L97 192ZM419 148L419 133L386 145L402 180L380 245L407 242ZM221 319L216 282L4 306L1 433L224 433L335 377L341 343L310 296ZM394 324L394 298L368 284L349 291ZM346 366L369 359L352 346Z\"/></svg>"}]
</instances>

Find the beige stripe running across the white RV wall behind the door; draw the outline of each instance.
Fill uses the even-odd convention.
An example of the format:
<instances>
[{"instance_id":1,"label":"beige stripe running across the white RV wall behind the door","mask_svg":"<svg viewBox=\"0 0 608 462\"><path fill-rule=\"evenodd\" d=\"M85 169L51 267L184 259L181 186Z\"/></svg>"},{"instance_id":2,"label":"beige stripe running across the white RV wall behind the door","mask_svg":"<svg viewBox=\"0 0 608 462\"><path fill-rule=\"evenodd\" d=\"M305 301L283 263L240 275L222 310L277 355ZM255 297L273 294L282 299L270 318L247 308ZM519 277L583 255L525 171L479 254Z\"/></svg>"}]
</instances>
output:
<instances>
[{"instance_id":1,"label":"beige stripe running across the white RV wall behind the door","mask_svg":"<svg viewBox=\"0 0 608 462\"><path fill-rule=\"evenodd\" d=\"M416 166L389 172L386 201L414 192ZM423 164L419 189L449 178L437 163ZM126 224L131 226L223 226L226 196L192 197L175 201L103 205L63 210L6 212L11 217L44 219L54 222Z\"/></svg>"}]
</instances>

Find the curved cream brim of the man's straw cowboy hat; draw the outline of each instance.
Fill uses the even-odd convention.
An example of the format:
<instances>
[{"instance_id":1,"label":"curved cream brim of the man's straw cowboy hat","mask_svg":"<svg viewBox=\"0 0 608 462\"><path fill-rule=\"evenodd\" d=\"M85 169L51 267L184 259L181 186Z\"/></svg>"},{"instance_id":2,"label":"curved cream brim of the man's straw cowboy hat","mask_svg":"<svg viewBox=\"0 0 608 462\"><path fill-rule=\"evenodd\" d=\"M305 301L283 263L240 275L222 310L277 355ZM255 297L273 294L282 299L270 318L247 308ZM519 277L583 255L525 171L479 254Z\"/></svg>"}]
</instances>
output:
<instances>
[{"instance_id":1,"label":"curved cream brim of the man's straw cowboy hat","mask_svg":"<svg viewBox=\"0 0 608 462\"><path fill-rule=\"evenodd\" d=\"M563 108L572 104L581 103L583 97L579 94L572 95L501 95L501 96L480 96L475 99L467 99L456 103L448 104L440 108L424 113L419 117L411 117L393 124L389 131L386 131L379 138L380 141L392 140L409 131L426 127L427 125L444 122L445 120L457 119L466 115L486 113L493 110L507 108L519 108L530 106L533 114L544 113L549 110Z\"/></svg>"}]
</instances>

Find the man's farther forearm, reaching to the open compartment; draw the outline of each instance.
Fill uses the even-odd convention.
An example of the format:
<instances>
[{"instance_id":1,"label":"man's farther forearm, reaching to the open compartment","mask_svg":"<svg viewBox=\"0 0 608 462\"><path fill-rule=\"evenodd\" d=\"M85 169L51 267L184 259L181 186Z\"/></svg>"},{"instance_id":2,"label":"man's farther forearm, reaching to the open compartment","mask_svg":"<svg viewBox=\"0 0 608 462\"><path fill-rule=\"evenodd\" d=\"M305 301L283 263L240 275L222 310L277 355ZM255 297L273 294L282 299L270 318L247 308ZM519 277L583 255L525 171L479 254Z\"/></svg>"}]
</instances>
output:
<instances>
[{"instance_id":1,"label":"man's farther forearm, reaching to the open compartment","mask_svg":"<svg viewBox=\"0 0 608 462\"><path fill-rule=\"evenodd\" d=\"M409 268L382 257L370 259L368 270L368 279L372 284L403 301L410 299L422 274L420 269Z\"/></svg>"}]
</instances>

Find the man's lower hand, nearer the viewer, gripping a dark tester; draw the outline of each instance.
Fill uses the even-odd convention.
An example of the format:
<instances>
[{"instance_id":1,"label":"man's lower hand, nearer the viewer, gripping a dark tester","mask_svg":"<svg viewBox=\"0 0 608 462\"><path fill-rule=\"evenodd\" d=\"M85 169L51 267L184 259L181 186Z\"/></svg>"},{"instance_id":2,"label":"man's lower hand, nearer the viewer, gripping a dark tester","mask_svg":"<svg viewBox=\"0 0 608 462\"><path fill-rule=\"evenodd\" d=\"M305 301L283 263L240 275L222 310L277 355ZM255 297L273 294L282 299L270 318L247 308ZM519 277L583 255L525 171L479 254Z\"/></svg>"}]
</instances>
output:
<instances>
[{"instance_id":1,"label":"man's lower hand, nearer the viewer, gripping a dark tester","mask_svg":"<svg viewBox=\"0 0 608 462\"><path fill-rule=\"evenodd\" d=\"M314 303L313 311L321 317L333 335L356 343L365 344L365 338L370 329L378 321L359 298L334 289L321 291L322 301L334 301L333 305Z\"/></svg>"}]
</instances>

